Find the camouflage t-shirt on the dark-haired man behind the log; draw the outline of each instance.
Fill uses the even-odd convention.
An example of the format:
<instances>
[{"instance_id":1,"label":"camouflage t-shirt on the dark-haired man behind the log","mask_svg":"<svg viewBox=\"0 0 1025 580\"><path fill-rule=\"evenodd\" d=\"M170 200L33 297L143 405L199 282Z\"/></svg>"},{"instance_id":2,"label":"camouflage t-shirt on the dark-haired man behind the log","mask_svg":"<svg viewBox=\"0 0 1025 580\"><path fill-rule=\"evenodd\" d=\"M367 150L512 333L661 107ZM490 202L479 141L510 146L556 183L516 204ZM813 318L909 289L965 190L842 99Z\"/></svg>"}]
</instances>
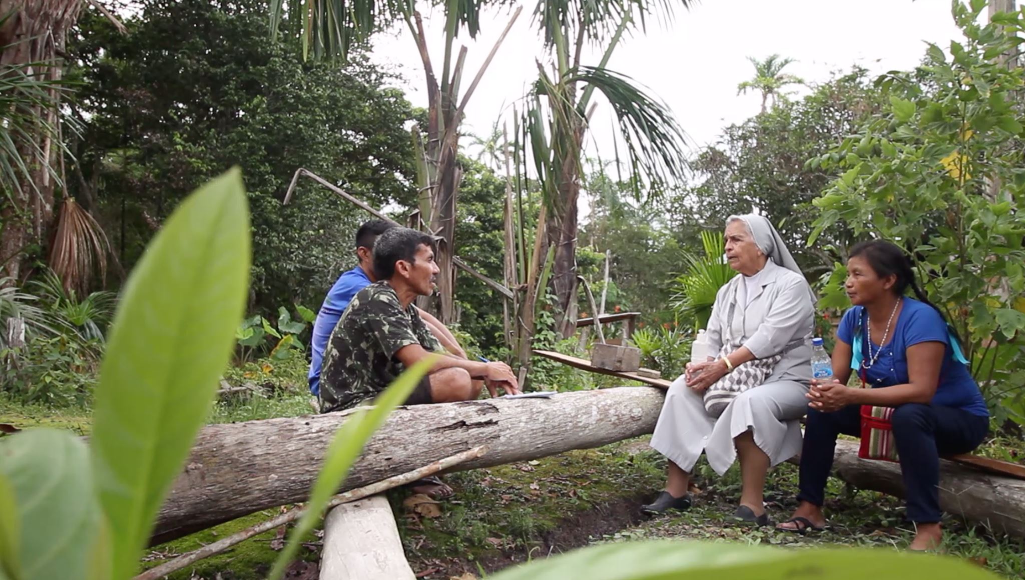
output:
<instances>
[{"instance_id":1,"label":"camouflage t-shirt on the dark-haired man behind the log","mask_svg":"<svg viewBox=\"0 0 1025 580\"><path fill-rule=\"evenodd\" d=\"M356 407L384 390L406 370L395 354L410 344L442 349L416 308L403 309L386 281L360 290L324 349L321 413Z\"/></svg>"}]
</instances>

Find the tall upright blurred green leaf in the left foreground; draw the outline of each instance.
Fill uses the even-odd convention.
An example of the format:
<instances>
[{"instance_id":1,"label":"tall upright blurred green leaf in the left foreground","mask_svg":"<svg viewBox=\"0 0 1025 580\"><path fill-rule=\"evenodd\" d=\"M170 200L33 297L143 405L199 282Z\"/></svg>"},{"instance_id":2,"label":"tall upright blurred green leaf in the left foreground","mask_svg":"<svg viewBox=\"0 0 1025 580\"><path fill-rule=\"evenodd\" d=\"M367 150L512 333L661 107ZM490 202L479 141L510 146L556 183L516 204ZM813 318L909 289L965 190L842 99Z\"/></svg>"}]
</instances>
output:
<instances>
[{"instance_id":1,"label":"tall upright blurred green leaf in the left foreground","mask_svg":"<svg viewBox=\"0 0 1025 580\"><path fill-rule=\"evenodd\" d=\"M228 364L246 296L249 235L236 168L178 206L125 285L90 445L114 578L137 569Z\"/></svg>"}]
</instances>

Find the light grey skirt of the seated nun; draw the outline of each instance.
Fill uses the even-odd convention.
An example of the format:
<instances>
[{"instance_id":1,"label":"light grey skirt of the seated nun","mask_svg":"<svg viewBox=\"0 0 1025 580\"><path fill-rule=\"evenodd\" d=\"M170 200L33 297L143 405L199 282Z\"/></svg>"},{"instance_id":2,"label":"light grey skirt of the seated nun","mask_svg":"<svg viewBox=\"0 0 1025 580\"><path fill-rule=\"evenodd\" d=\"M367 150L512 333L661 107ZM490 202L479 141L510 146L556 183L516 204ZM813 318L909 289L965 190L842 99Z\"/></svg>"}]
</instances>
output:
<instances>
[{"instance_id":1,"label":"light grey skirt of the seated nun","mask_svg":"<svg viewBox=\"0 0 1025 580\"><path fill-rule=\"evenodd\" d=\"M682 375L665 393L651 446L687 472L703 451L722 475L737 458L733 439L750 429L754 444L776 465L801 452L798 419L808 413L807 392L808 386L796 381L765 383L737 396L716 419L705 411L701 393L687 388Z\"/></svg>"}]
</instances>

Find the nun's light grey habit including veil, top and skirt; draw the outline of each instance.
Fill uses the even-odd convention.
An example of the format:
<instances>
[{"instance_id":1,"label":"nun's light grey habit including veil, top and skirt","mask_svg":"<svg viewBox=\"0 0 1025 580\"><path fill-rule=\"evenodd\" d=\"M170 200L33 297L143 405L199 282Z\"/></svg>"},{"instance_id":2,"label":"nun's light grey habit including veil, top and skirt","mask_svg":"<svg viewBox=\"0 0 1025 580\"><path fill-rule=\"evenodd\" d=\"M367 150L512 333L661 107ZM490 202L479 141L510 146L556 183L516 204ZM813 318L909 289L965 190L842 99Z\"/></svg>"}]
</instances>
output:
<instances>
[{"instance_id":1,"label":"nun's light grey habit including veil, top and skirt","mask_svg":"<svg viewBox=\"0 0 1025 580\"><path fill-rule=\"evenodd\" d=\"M735 218L731 216L730 221ZM708 415L702 395L688 388L684 376L672 382L651 446L688 472L703 451L712 469L725 473L737 456L733 439L748 429L772 465L801 451L798 419L808 412L805 393L812 378L809 339L814 328L814 294L786 248L780 251L782 242L772 247L775 240L767 240L761 226L767 224L778 240L775 229L762 216L740 217L751 218L765 220L756 225L748 222L748 229L770 259L752 277L756 278L752 296L747 295L744 276L734 277L720 289L706 335L711 351L717 353L723 345L727 301L736 299L733 335L757 359L780 353L783 357L764 384L739 395L717 419ZM777 260L792 264L792 270L777 265Z\"/></svg>"}]
</instances>

